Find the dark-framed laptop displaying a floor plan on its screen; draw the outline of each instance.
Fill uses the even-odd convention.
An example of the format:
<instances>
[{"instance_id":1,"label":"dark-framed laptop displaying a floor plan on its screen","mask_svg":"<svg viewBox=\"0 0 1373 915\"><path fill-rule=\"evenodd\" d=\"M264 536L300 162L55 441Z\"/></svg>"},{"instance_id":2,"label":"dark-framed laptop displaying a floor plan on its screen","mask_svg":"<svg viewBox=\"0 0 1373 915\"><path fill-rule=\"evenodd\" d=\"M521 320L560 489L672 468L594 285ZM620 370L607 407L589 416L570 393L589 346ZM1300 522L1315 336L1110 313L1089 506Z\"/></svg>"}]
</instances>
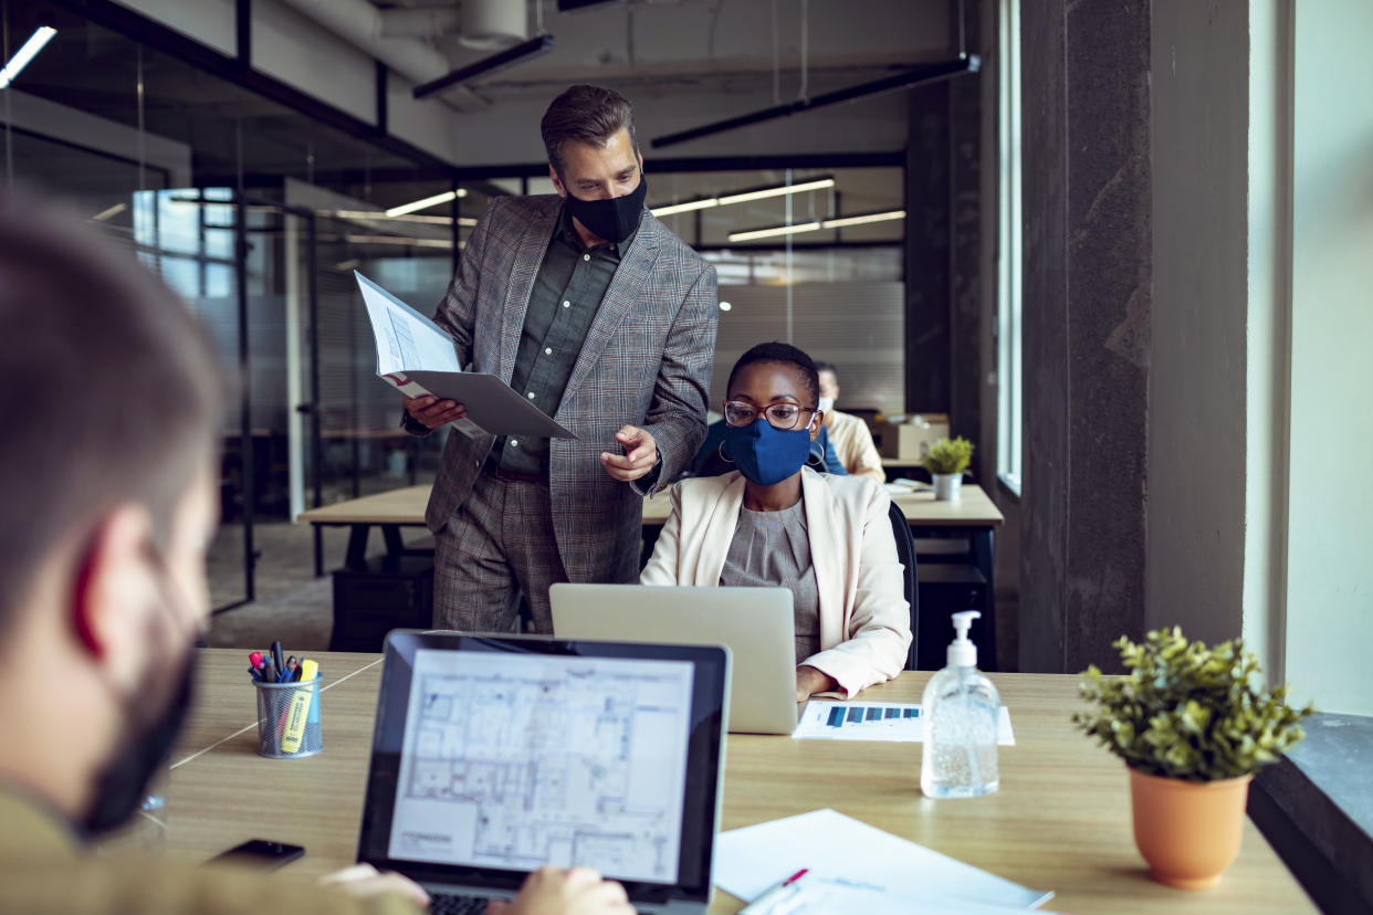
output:
<instances>
[{"instance_id":1,"label":"dark-framed laptop displaying a floor plan on its screen","mask_svg":"<svg viewBox=\"0 0 1373 915\"><path fill-rule=\"evenodd\" d=\"M704 912L729 669L724 647L391 632L357 860L434 911L581 864L641 912Z\"/></svg>"}]
</instances>

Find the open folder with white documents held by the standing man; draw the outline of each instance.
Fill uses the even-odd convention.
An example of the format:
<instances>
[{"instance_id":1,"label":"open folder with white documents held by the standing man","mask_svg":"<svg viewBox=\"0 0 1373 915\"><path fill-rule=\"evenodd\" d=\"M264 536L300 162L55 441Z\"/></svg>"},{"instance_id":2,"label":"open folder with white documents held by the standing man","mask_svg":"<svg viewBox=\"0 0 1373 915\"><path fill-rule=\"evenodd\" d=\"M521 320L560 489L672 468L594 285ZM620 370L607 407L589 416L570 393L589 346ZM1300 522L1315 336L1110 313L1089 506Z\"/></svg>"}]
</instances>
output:
<instances>
[{"instance_id":1,"label":"open folder with white documents held by the standing man","mask_svg":"<svg viewBox=\"0 0 1373 915\"><path fill-rule=\"evenodd\" d=\"M575 439L494 375L463 372L453 337L423 314L353 272L376 337L376 375L406 396L432 394L467 407L453 423L465 435L533 435Z\"/></svg>"}]
</instances>

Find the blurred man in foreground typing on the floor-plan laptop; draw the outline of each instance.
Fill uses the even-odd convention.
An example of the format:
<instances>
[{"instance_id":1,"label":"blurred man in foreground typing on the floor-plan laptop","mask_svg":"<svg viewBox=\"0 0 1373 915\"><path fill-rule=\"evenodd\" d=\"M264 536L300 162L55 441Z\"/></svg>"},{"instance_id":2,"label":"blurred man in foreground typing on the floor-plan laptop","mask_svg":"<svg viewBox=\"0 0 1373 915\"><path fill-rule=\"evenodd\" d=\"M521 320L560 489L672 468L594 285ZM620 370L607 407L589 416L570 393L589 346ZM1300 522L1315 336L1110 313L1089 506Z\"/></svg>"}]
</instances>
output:
<instances>
[{"instance_id":1,"label":"blurred man in foreground typing on the floor-plan laptop","mask_svg":"<svg viewBox=\"0 0 1373 915\"><path fill-rule=\"evenodd\" d=\"M423 889L369 866L316 885L93 853L191 708L225 390L176 296L36 200L0 198L0 911L420 911ZM60 427L34 398L62 405ZM625 915L623 900L548 868L493 908Z\"/></svg>"}]
</instances>

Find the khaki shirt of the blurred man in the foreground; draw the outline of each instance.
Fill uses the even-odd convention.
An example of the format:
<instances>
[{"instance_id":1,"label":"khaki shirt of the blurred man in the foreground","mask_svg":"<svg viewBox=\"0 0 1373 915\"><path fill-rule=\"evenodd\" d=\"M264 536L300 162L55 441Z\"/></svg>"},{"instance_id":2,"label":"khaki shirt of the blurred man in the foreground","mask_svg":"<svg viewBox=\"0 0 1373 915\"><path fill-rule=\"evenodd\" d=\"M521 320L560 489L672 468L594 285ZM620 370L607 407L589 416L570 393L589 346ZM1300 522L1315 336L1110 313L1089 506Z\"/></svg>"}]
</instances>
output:
<instances>
[{"instance_id":1,"label":"khaki shirt of the blurred man in the foreground","mask_svg":"<svg viewBox=\"0 0 1373 915\"><path fill-rule=\"evenodd\" d=\"M395 896L357 899L288 875L102 857L55 811L0 787L0 912L413 915Z\"/></svg>"}]
</instances>

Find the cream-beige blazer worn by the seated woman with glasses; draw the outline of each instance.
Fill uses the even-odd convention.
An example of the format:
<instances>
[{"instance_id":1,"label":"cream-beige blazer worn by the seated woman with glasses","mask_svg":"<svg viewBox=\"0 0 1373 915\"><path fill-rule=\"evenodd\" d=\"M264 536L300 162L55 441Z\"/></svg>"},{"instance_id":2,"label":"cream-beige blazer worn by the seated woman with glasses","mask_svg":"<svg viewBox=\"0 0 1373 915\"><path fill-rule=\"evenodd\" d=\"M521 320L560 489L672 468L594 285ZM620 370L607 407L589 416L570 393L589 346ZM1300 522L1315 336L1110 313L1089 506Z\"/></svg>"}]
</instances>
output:
<instances>
[{"instance_id":1,"label":"cream-beige blazer worn by the seated woman with glasses","mask_svg":"<svg viewBox=\"0 0 1373 915\"><path fill-rule=\"evenodd\" d=\"M810 561L820 591L820 652L799 661L839 680L840 693L894 678L906 663L910 610L887 508L875 480L800 472ZM673 510L638 580L718 586L744 502L744 477L682 480ZM781 584L781 583L778 583Z\"/></svg>"}]
</instances>

